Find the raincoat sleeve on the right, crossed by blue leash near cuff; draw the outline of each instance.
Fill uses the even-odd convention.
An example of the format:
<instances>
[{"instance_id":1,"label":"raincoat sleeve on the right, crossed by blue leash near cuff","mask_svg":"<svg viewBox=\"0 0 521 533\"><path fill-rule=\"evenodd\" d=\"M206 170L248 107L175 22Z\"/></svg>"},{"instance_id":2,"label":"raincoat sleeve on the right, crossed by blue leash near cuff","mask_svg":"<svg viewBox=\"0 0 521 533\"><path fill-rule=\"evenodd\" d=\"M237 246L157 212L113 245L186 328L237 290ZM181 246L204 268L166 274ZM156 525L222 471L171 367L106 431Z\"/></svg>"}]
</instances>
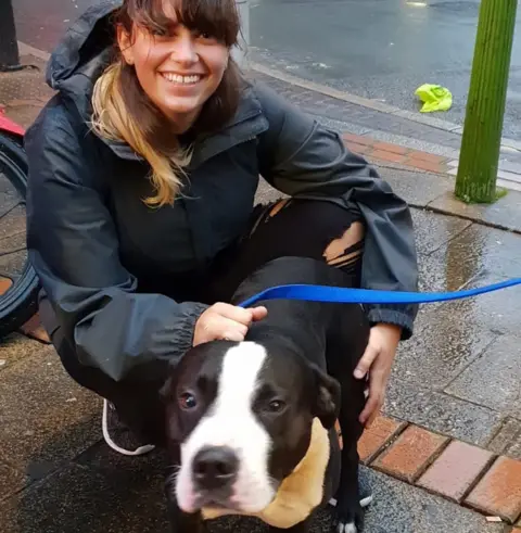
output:
<instances>
[{"instance_id":1,"label":"raincoat sleeve on the right, crossed by blue leash near cuff","mask_svg":"<svg viewBox=\"0 0 521 533\"><path fill-rule=\"evenodd\" d=\"M259 138L262 176L295 198L331 200L356 205L366 223L361 285L367 289L416 291L418 265L412 220L407 203L339 134L293 107L265 86L255 92L269 127ZM412 333L417 305L370 305L372 323Z\"/></svg>"}]
</instances>

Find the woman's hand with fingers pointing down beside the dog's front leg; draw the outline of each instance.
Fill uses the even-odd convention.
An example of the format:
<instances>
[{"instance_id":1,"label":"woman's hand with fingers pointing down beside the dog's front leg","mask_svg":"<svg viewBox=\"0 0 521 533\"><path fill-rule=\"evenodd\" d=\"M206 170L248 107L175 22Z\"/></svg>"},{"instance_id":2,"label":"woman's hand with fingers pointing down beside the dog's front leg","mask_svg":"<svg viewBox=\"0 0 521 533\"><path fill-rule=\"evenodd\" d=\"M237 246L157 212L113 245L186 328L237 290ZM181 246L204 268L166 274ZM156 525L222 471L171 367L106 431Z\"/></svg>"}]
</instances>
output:
<instances>
[{"instance_id":1,"label":"woman's hand with fingers pointing down beside the dog's front leg","mask_svg":"<svg viewBox=\"0 0 521 533\"><path fill-rule=\"evenodd\" d=\"M355 369L356 379L369 375L369 396L360 415L360 422L369 427L379 414L385 397L385 388L391 375L402 328L392 323L377 323L371 328L366 352Z\"/></svg>"}]
</instances>

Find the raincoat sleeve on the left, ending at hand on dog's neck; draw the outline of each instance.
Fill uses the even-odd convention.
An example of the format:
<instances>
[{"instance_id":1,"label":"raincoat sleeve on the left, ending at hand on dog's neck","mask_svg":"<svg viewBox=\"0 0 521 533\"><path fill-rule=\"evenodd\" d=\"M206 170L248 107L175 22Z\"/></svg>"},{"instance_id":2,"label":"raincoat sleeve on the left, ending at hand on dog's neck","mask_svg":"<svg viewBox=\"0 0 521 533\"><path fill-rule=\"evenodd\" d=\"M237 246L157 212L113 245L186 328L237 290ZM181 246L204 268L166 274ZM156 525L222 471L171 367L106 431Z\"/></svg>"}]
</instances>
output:
<instances>
[{"instance_id":1,"label":"raincoat sleeve on the left, ending at hand on dog's neck","mask_svg":"<svg viewBox=\"0 0 521 533\"><path fill-rule=\"evenodd\" d=\"M27 249L78 359L118 381L141 364L182 355L206 306L135 292L85 142L60 106L27 132Z\"/></svg>"}]
</instances>

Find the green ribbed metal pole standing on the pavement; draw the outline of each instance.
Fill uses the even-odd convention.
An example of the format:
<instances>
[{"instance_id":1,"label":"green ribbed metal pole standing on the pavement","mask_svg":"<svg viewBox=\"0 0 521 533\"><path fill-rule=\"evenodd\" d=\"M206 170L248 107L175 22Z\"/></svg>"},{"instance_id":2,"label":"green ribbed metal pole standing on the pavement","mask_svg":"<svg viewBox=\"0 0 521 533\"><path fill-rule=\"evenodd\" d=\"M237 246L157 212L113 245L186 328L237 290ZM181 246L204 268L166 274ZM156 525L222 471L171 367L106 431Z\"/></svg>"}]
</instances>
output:
<instances>
[{"instance_id":1,"label":"green ribbed metal pole standing on the pavement","mask_svg":"<svg viewBox=\"0 0 521 533\"><path fill-rule=\"evenodd\" d=\"M517 4L517 0L481 0L455 189L463 202L496 200Z\"/></svg>"}]
</instances>

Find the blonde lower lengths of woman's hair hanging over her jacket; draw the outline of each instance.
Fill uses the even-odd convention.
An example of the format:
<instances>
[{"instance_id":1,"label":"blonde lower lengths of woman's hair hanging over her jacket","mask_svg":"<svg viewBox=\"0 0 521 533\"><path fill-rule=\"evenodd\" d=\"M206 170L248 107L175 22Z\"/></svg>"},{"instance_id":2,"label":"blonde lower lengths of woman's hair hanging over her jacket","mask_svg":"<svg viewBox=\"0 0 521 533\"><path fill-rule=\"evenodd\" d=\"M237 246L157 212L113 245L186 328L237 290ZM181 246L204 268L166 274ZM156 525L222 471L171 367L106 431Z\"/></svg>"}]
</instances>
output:
<instances>
[{"instance_id":1,"label":"blonde lower lengths of woman's hair hanging over her jacket","mask_svg":"<svg viewBox=\"0 0 521 533\"><path fill-rule=\"evenodd\" d=\"M144 200L153 207L171 205L182 187L181 176L191 158L190 149L178 149L174 155L157 150L129 113L120 87L122 62L109 66L94 84L91 127L100 137L124 141L151 166L150 180L155 194Z\"/></svg>"}]
</instances>

